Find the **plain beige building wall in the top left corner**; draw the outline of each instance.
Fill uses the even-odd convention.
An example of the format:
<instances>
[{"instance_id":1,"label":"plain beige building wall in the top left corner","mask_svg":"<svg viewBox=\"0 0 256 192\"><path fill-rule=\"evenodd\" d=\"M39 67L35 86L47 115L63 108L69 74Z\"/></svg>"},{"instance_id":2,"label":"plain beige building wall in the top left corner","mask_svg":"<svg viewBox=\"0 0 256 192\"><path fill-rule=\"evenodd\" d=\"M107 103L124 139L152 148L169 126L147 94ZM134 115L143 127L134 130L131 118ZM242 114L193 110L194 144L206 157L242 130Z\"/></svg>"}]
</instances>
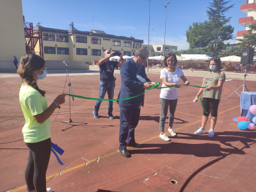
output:
<instances>
[{"instance_id":1,"label":"plain beige building wall in the top left corner","mask_svg":"<svg viewBox=\"0 0 256 192\"><path fill-rule=\"evenodd\" d=\"M0 65L9 66L13 56L20 60L26 53L21 0L0 1L0 24Z\"/></svg>"}]
</instances>

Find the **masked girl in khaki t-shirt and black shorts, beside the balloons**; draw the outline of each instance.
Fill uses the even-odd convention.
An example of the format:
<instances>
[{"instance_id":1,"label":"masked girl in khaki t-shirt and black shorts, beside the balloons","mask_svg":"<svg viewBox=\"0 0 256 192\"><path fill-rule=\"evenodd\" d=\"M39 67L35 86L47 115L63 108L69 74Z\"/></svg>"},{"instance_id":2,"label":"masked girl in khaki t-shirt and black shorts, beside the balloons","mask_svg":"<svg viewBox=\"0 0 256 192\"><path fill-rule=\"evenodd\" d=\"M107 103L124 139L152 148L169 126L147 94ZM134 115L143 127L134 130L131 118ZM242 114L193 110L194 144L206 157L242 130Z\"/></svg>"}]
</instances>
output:
<instances>
[{"instance_id":1,"label":"masked girl in khaki t-shirt and black shorts, beside the balloons","mask_svg":"<svg viewBox=\"0 0 256 192\"><path fill-rule=\"evenodd\" d=\"M209 118L211 111L211 125L209 130L209 137L214 136L214 127L217 122L218 106L220 104L222 87L225 82L226 76L224 72L221 72L221 60L220 58L211 58L209 61L209 72L204 76L202 87L200 88L194 102L198 100L198 97L203 93L203 104L207 113L203 113L201 127L195 132L195 134L204 134L205 125Z\"/></svg>"}]
</instances>

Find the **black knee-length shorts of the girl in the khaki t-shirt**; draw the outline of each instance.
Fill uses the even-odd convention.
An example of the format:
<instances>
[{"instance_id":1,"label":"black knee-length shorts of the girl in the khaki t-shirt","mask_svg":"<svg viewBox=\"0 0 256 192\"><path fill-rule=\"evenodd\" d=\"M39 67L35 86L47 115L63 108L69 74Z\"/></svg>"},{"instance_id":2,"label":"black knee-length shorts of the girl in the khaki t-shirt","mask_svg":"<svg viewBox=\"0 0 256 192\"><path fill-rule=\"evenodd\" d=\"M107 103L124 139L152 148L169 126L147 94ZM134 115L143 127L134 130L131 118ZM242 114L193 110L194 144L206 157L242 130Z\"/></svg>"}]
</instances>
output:
<instances>
[{"instance_id":1,"label":"black knee-length shorts of the girl in the khaki t-shirt","mask_svg":"<svg viewBox=\"0 0 256 192\"><path fill-rule=\"evenodd\" d=\"M218 116L218 106L220 104L220 100L203 97L203 104L204 104L205 110L208 113L207 114L204 111L204 116L209 116L210 109L211 109L211 116Z\"/></svg>"}]
</instances>

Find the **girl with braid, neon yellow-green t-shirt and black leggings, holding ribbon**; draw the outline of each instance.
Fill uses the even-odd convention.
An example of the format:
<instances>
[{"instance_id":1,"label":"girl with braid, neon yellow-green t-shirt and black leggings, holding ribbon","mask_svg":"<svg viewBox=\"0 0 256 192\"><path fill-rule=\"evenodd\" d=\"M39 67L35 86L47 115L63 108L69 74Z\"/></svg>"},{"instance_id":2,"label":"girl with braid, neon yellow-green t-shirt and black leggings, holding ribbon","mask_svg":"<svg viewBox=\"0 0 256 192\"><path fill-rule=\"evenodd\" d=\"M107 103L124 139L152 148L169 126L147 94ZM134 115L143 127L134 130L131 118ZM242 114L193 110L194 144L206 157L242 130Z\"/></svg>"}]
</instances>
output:
<instances>
[{"instance_id":1,"label":"girl with braid, neon yellow-green t-shirt and black leggings, holding ribbon","mask_svg":"<svg viewBox=\"0 0 256 192\"><path fill-rule=\"evenodd\" d=\"M22 56L17 73L23 81L19 101L26 123L22 128L22 134L29 148L25 171L27 189L51 192L51 188L46 189L45 178L51 156L50 116L65 102L65 94L58 95L51 105L47 106L45 91L37 85L38 79L44 79L47 75L45 60L36 54Z\"/></svg>"}]
</instances>

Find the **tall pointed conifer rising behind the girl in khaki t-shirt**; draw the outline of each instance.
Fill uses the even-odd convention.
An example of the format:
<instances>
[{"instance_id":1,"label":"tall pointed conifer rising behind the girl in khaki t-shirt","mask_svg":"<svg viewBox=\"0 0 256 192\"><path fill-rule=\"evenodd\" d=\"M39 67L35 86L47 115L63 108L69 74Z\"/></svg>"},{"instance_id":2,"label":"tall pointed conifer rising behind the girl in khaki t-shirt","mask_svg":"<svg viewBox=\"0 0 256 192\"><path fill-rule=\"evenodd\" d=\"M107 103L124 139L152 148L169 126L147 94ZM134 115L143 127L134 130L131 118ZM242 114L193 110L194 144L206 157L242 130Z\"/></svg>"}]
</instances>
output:
<instances>
[{"instance_id":1,"label":"tall pointed conifer rising behind the girl in khaki t-shirt","mask_svg":"<svg viewBox=\"0 0 256 192\"><path fill-rule=\"evenodd\" d=\"M223 49L224 41L232 39L232 33L234 28L231 25L227 25L231 17L226 18L226 13L234 4L227 6L230 1L225 0L213 0L208 7L207 16L211 23L211 36L210 47L213 55L218 55L218 51Z\"/></svg>"}]
</instances>

